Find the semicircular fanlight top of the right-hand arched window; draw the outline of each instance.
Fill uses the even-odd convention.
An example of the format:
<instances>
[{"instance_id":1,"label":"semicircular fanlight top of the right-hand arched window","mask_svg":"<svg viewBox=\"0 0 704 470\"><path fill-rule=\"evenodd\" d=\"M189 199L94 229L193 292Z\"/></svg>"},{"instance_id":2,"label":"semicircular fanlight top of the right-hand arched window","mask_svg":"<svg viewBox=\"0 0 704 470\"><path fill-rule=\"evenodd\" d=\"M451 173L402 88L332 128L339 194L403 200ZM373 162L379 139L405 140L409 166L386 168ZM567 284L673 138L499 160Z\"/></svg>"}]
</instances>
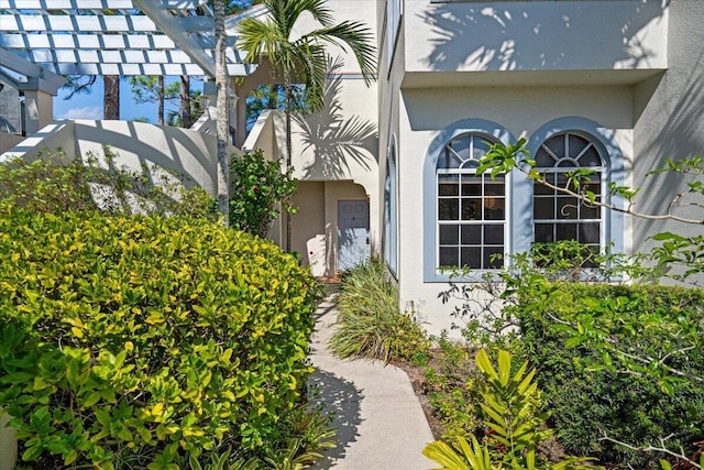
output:
<instances>
[{"instance_id":1,"label":"semicircular fanlight top of the right-hand arched window","mask_svg":"<svg viewBox=\"0 0 704 470\"><path fill-rule=\"evenodd\" d=\"M546 140L536 152L539 168L602 168L604 160L593 141L573 132Z\"/></svg>"}]
</instances>

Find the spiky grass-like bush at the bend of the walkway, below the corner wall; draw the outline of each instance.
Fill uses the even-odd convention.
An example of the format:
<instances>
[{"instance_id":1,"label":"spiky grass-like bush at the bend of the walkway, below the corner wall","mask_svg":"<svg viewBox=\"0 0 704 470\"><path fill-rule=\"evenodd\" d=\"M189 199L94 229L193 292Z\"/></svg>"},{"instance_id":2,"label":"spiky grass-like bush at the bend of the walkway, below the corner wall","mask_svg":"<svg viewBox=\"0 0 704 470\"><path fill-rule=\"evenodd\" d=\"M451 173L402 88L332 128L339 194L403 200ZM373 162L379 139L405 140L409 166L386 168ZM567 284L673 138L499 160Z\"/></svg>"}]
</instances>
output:
<instances>
[{"instance_id":1,"label":"spiky grass-like bush at the bend of the walkway, below the corner wall","mask_svg":"<svg viewBox=\"0 0 704 470\"><path fill-rule=\"evenodd\" d=\"M425 331L398 308L398 288L373 259L344 276L338 299L338 329L330 347L340 357L391 361L411 359L428 350Z\"/></svg>"}]
</instances>

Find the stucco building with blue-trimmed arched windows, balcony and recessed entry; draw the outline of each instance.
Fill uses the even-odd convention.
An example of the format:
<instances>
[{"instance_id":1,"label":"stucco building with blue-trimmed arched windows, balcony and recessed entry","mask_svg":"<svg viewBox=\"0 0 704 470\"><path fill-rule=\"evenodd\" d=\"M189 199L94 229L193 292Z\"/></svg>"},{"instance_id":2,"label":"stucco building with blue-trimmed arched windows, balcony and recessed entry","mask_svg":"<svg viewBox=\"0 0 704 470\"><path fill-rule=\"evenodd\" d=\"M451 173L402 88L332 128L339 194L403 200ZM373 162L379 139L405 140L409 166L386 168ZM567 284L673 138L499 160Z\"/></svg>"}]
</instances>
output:
<instances>
[{"instance_id":1,"label":"stucco building with blue-trimmed arched windows, balcony and recessed entry","mask_svg":"<svg viewBox=\"0 0 704 470\"><path fill-rule=\"evenodd\" d=\"M650 250L663 230L701 234L697 226L575 205L519 172L495 181L474 174L491 143L525 138L556 183L588 168L598 197L609 184L639 186L638 211L667 212L682 179L647 174L666 159L704 152L701 1L328 4L338 21L372 25L378 80L365 88L346 57L331 75L328 109L294 131L302 179L294 249L318 274L344 267L349 250L362 253L369 240L398 282L402 305L413 302L438 334L452 320L438 298L448 267L481 274L534 241L632 253ZM362 123L375 135L336 140ZM356 210L363 217L366 205L369 233L344 220Z\"/></svg>"}]
</instances>

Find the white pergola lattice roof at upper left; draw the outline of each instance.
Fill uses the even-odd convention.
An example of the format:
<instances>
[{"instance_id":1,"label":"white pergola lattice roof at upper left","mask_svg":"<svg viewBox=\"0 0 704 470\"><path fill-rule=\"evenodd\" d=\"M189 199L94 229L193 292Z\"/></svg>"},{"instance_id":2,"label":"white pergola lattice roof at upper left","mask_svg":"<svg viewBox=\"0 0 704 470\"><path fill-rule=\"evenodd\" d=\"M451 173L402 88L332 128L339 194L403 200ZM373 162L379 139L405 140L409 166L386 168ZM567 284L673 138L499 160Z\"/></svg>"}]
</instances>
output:
<instances>
[{"instance_id":1,"label":"white pergola lattice roof at upper left","mask_svg":"<svg viewBox=\"0 0 704 470\"><path fill-rule=\"evenodd\" d=\"M215 77L207 0L0 0L0 66L20 75ZM227 43L229 75L253 72Z\"/></svg>"}]
</instances>

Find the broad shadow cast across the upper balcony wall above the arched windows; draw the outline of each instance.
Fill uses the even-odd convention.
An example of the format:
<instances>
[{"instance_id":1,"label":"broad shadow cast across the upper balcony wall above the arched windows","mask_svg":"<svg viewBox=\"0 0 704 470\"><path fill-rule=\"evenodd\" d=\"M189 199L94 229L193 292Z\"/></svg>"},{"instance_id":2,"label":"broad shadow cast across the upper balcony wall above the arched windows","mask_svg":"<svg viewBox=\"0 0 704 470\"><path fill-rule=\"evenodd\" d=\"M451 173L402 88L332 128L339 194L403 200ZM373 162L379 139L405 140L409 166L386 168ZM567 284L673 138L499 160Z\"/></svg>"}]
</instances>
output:
<instances>
[{"instance_id":1,"label":"broad shadow cast across the upper balcony wall above the arched windows","mask_svg":"<svg viewBox=\"0 0 704 470\"><path fill-rule=\"evenodd\" d=\"M596 2L431 4L418 14L433 37L424 62L435 70L649 68L653 52L638 33L662 17L661 2L617 7L605 12Z\"/></svg>"}]
</instances>

